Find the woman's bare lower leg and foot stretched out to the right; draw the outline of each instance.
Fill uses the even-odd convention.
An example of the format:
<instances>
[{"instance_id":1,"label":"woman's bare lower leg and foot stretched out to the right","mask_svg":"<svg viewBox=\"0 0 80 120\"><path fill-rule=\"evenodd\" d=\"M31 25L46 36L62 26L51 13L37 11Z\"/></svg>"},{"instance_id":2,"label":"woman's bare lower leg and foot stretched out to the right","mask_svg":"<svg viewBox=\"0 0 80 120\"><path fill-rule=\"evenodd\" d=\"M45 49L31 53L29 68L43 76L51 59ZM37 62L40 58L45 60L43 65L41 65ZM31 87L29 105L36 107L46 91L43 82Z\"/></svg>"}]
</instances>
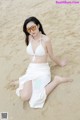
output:
<instances>
[{"instance_id":1,"label":"woman's bare lower leg and foot stretched out to the right","mask_svg":"<svg viewBox=\"0 0 80 120\"><path fill-rule=\"evenodd\" d=\"M71 81L72 81L71 78L55 76L54 80L45 87L46 94L49 95L53 91L53 89L55 89L60 83L71 82Z\"/></svg>"}]
</instances>

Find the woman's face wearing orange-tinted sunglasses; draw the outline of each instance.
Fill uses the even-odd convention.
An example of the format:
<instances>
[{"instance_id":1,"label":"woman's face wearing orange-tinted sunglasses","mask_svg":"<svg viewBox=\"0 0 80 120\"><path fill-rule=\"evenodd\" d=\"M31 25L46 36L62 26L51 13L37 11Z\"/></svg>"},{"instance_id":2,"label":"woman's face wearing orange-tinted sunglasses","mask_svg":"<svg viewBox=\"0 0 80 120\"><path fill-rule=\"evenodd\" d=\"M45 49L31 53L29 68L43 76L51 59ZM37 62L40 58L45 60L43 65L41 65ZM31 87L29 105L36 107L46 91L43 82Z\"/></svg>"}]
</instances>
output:
<instances>
[{"instance_id":1,"label":"woman's face wearing orange-tinted sunglasses","mask_svg":"<svg viewBox=\"0 0 80 120\"><path fill-rule=\"evenodd\" d=\"M29 22L26 26L27 32L35 37L39 33L39 25L37 26L34 22Z\"/></svg>"}]
</instances>

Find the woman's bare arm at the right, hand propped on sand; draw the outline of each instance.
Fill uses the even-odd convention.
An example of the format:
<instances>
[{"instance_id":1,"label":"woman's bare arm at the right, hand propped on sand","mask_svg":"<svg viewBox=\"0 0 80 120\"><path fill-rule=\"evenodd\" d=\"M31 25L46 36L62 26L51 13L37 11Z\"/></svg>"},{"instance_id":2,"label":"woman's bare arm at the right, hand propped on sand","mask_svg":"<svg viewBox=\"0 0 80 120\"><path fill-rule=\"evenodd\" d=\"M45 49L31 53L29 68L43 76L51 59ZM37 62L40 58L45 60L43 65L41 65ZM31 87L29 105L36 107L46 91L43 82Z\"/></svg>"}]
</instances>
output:
<instances>
[{"instance_id":1,"label":"woman's bare arm at the right, hand propped on sand","mask_svg":"<svg viewBox=\"0 0 80 120\"><path fill-rule=\"evenodd\" d=\"M61 61L58 57L56 57L53 54L53 48L52 48L51 40L49 38L46 41L46 48L47 48L49 57L51 58L52 61L54 61L56 64L58 64L61 67L66 65L66 61L65 60Z\"/></svg>"}]
</instances>

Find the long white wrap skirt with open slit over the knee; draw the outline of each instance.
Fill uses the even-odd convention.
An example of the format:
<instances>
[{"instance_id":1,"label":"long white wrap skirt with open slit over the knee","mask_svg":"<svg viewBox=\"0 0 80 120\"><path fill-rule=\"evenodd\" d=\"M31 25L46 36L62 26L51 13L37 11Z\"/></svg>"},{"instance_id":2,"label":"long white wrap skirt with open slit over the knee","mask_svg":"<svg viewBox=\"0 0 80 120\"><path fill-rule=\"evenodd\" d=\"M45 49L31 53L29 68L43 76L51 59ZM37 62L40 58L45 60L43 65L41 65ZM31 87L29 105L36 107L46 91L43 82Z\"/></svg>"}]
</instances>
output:
<instances>
[{"instance_id":1,"label":"long white wrap skirt with open slit over the knee","mask_svg":"<svg viewBox=\"0 0 80 120\"><path fill-rule=\"evenodd\" d=\"M32 80L32 96L29 101L30 107L42 108L46 100L45 86L51 81L50 67L48 63L30 63L26 73L19 78L19 88L16 94L23 89L23 84Z\"/></svg>"}]
</instances>

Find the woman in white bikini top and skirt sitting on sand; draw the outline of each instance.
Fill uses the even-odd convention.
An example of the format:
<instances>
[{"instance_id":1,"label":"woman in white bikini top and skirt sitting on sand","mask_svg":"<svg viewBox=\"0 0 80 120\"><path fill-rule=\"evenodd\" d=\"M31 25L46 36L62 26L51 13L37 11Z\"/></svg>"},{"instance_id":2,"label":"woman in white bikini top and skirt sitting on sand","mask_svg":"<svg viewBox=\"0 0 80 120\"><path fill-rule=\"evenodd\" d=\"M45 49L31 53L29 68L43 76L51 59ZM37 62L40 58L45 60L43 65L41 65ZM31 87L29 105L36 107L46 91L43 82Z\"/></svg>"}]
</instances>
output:
<instances>
[{"instance_id":1,"label":"woman in white bikini top and skirt sitting on sand","mask_svg":"<svg viewBox=\"0 0 80 120\"><path fill-rule=\"evenodd\" d=\"M26 51L30 57L30 64L26 73L19 78L16 94L23 101L29 101L30 107L42 108L47 96L57 85L71 80L55 76L51 81L48 56L59 66L63 67L66 62L60 61L54 56L51 41L44 33L40 21L35 17L27 18L23 25L23 31L26 35Z\"/></svg>"}]
</instances>

